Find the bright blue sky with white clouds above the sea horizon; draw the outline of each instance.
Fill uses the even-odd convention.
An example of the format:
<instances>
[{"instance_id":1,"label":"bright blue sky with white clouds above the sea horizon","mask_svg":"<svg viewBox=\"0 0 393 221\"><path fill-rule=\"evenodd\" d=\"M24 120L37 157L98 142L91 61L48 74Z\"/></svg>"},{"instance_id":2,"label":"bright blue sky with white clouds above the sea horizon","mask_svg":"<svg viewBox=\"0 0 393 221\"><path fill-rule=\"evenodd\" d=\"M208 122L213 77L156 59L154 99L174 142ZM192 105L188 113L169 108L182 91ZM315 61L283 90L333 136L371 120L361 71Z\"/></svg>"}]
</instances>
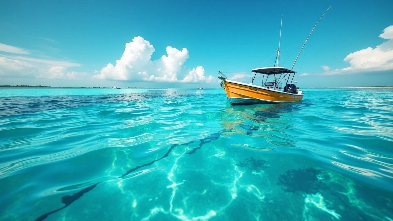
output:
<instances>
[{"instance_id":1,"label":"bright blue sky with white clouds above the sea horizon","mask_svg":"<svg viewBox=\"0 0 393 221\"><path fill-rule=\"evenodd\" d=\"M329 5L297 85L393 85L391 0L2 1L0 85L216 88L218 71L248 82L274 65L281 14L290 68Z\"/></svg>"}]
</instances>

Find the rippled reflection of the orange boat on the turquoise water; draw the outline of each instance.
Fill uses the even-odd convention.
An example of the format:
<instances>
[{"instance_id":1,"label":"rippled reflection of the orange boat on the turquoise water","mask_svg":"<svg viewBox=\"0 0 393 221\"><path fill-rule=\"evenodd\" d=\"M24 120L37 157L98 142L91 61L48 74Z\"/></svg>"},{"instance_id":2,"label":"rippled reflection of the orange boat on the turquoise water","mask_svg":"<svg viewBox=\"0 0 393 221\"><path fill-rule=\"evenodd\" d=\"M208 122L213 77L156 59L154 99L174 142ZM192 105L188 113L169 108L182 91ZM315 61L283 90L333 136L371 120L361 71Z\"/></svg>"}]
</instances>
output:
<instances>
[{"instance_id":1,"label":"rippled reflection of the orange boat on the turquoise water","mask_svg":"<svg viewBox=\"0 0 393 221\"><path fill-rule=\"evenodd\" d=\"M222 127L230 146L257 151L297 146L297 125L293 118L298 112L310 107L309 102L281 103L258 106L232 106L226 109ZM287 128L292 128L288 133ZM255 142L255 137L258 141Z\"/></svg>"}]
</instances>

